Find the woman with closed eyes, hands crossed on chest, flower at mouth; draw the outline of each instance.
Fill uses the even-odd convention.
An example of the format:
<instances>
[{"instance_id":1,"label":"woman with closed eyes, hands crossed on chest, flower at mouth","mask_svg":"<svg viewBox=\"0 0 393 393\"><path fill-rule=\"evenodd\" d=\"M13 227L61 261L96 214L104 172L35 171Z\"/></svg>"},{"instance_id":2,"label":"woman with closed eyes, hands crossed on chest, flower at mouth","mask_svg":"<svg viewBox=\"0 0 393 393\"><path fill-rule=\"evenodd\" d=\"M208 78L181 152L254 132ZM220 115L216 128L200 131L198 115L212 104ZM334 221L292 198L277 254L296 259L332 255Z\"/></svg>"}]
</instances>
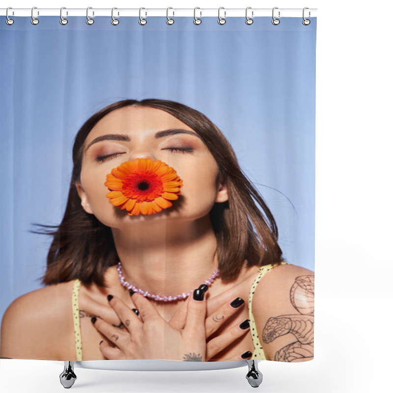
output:
<instances>
[{"instance_id":1,"label":"woman with closed eyes, hands crossed on chest, flower at mouth","mask_svg":"<svg viewBox=\"0 0 393 393\"><path fill-rule=\"evenodd\" d=\"M73 162L63 220L48 232L48 286L5 312L2 357L312 359L313 272L285 264L270 210L206 116L173 101L116 102L81 127ZM135 175L153 163L177 180L171 196L149 211L115 197L124 166Z\"/></svg>"}]
</instances>

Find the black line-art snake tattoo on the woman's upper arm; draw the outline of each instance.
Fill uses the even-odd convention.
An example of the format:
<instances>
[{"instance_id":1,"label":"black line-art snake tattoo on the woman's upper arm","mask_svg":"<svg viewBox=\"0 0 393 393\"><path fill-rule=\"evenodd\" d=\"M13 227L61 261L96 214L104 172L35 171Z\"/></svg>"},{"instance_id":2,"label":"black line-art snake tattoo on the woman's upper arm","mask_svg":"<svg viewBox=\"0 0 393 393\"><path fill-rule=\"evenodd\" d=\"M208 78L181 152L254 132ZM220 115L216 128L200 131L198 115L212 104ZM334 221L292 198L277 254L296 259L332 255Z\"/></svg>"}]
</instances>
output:
<instances>
[{"instance_id":1,"label":"black line-art snake tattoo on the woman's upper arm","mask_svg":"<svg viewBox=\"0 0 393 393\"><path fill-rule=\"evenodd\" d=\"M296 341L279 349L275 361L297 362L311 360L314 353L314 276L299 276L289 291L292 306L299 314L269 318L262 332L263 342L291 333ZM300 361L303 361L300 360Z\"/></svg>"}]
</instances>

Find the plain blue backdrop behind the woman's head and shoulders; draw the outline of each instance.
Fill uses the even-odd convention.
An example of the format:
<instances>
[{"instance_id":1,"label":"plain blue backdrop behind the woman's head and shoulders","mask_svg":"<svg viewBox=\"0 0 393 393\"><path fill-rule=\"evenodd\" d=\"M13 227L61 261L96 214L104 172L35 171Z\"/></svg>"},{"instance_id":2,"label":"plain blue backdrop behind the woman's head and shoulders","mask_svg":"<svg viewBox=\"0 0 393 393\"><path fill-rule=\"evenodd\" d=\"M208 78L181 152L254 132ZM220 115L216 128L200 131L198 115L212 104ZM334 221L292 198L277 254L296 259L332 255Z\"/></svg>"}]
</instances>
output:
<instances>
[{"instance_id":1,"label":"plain blue backdrop behind the woman's head and shoulders","mask_svg":"<svg viewBox=\"0 0 393 393\"><path fill-rule=\"evenodd\" d=\"M291 263L314 270L316 18L0 17L0 311L41 286L73 139L94 112L160 98L206 114L260 191Z\"/></svg>"}]
</instances>

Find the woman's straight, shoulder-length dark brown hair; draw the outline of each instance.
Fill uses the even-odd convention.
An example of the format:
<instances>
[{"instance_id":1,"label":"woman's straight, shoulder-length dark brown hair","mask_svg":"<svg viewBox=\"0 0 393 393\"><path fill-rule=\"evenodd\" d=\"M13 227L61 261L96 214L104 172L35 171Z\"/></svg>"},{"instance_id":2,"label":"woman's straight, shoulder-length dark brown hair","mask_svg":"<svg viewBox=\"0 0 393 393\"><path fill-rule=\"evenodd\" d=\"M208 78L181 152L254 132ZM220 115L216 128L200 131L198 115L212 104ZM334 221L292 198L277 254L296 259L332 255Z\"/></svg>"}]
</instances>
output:
<instances>
[{"instance_id":1,"label":"woman's straight, shoulder-length dark brown hair","mask_svg":"<svg viewBox=\"0 0 393 393\"><path fill-rule=\"evenodd\" d=\"M84 211L75 183L80 181L84 141L91 129L108 113L127 106L156 108L170 113L191 127L215 158L219 167L217 185L220 180L225 180L228 190L228 201L216 202L209 213L217 237L218 267L223 281L235 280L245 261L248 267L284 261L275 219L242 172L231 145L218 127L203 113L175 101L128 99L94 113L75 137L72 177L63 219L60 225L39 225L56 228L54 230L33 231L53 236L47 269L39 279L43 284L78 278L85 285L95 282L106 287L105 270L119 262L111 228Z\"/></svg>"}]
</instances>

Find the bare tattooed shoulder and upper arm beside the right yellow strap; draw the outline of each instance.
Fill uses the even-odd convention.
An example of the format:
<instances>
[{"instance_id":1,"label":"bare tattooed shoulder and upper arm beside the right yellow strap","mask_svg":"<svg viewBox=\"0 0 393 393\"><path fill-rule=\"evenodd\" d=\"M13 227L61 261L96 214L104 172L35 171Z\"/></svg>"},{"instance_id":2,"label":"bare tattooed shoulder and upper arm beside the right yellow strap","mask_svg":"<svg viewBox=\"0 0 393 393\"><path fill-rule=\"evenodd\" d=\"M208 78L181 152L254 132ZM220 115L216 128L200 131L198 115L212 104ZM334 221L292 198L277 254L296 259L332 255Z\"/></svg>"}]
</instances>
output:
<instances>
[{"instance_id":1,"label":"bare tattooed shoulder and upper arm beside the right yellow strap","mask_svg":"<svg viewBox=\"0 0 393 393\"><path fill-rule=\"evenodd\" d=\"M312 360L314 272L296 265L274 267L255 288L253 315L267 359Z\"/></svg>"}]
</instances>

